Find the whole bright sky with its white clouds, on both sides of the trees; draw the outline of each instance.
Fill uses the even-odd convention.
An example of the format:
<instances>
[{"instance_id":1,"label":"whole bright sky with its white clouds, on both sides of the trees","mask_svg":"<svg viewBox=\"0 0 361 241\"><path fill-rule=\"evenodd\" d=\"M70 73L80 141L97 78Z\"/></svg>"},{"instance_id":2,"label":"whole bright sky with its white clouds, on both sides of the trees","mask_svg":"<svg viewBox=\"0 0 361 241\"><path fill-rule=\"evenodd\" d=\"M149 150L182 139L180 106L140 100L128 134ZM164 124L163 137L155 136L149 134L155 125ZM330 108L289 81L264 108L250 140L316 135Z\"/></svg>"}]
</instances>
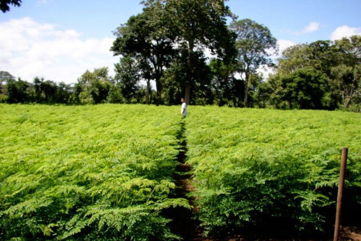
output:
<instances>
[{"instance_id":1,"label":"whole bright sky with its white clouds, on both sides of the trees","mask_svg":"<svg viewBox=\"0 0 361 241\"><path fill-rule=\"evenodd\" d=\"M279 52L299 43L361 35L361 0L229 0L238 20L267 26ZM86 70L108 67L112 31L142 12L139 0L23 0L0 12L0 71L32 82L75 83ZM260 70L268 73L268 70Z\"/></svg>"}]
</instances>

